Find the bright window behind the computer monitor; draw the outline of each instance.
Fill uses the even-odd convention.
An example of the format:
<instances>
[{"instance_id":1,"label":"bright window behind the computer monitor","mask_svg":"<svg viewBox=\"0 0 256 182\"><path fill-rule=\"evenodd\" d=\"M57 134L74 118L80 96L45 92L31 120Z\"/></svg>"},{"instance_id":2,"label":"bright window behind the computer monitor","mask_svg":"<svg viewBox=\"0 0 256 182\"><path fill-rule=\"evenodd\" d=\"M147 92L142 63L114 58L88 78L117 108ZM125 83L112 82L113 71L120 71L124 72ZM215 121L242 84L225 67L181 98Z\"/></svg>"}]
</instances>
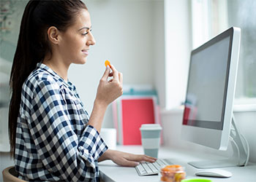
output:
<instances>
[{"instance_id":1,"label":"bright window behind the computer monitor","mask_svg":"<svg viewBox=\"0 0 256 182\"><path fill-rule=\"evenodd\" d=\"M231 26L241 28L236 99L256 103L256 1L192 0L191 5L193 49Z\"/></svg>"}]
</instances>

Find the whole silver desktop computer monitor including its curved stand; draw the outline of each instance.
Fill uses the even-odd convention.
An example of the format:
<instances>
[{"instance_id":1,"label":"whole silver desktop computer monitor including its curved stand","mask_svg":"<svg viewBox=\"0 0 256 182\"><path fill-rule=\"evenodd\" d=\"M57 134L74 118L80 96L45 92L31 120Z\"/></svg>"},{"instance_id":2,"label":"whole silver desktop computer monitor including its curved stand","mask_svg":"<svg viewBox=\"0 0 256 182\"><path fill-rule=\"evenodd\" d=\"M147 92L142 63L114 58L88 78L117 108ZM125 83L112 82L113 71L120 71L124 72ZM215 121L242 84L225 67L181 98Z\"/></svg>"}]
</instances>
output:
<instances>
[{"instance_id":1,"label":"whole silver desktop computer monitor including its curved stand","mask_svg":"<svg viewBox=\"0 0 256 182\"><path fill-rule=\"evenodd\" d=\"M233 157L189 162L197 168L241 166L248 161L233 118L240 35L240 28L229 28L191 52L181 138L218 150L234 141Z\"/></svg>"}]
</instances>

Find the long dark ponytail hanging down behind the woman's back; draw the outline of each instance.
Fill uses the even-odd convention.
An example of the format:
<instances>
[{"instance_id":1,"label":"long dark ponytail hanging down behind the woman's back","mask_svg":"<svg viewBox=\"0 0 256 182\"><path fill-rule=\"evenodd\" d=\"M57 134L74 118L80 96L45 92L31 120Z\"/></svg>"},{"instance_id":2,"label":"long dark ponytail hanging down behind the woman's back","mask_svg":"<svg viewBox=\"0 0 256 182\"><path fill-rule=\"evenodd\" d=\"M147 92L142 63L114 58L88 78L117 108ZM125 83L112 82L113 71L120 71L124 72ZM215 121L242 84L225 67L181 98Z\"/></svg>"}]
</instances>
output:
<instances>
[{"instance_id":1,"label":"long dark ponytail hanging down behind the woman's back","mask_svg":"<svg viewBox=\"0 0 256 182\"><path fill-rule=\"evenodd\" d=\"M37 53L31 52L31 15L39 1L29 1L20 24L20 34L15 56L12 63L12 71L10 75L10 88L12 98L9 106L9 134L10 134L10 152L14 156L15 153L15 137L17 118L20 110L20 99L23 82L29 76L31 71L36 68L39 61Z\"/></svg>"}]
</instances>

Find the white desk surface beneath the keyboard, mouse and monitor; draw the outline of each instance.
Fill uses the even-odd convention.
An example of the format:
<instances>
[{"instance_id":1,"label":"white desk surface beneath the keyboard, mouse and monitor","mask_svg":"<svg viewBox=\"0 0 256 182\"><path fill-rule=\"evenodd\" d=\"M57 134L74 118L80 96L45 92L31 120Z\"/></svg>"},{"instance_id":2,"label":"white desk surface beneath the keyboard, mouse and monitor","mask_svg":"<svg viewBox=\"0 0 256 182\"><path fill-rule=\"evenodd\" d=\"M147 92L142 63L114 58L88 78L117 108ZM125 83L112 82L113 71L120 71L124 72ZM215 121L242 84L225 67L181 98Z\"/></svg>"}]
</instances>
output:
<instances>
[{"instance_id":1,"label":"white desk surface beneath the keyboard, mouse and monitor","mask_svg":"<svg viewBox=\"0 0 256 182\"><path fill-rule=\"evenodd\" d=\"M142 146L117 146L118 151L126 151L133 154L143 154ZM192 151L184 151L181 149L170 149L161 147L159 149L159 158L171 159L174 164L182 165L185 167L187 173L186 178L206 178L211 179L213 182L256 182L256 164L249 164L246 167L225 167L222 168L231 172L233 175L230 178L209 178L199 177L195 175L197 169L188 165L187 162L207 160L207 159L223 159L211 154L196 154ZM120 167L112 161L99 162L100 176L103 181L120 181L120 182L139 182L139 181L157 181L159 182L158 175L139 176L135 167Z\"/></svg>"}]
</instances>

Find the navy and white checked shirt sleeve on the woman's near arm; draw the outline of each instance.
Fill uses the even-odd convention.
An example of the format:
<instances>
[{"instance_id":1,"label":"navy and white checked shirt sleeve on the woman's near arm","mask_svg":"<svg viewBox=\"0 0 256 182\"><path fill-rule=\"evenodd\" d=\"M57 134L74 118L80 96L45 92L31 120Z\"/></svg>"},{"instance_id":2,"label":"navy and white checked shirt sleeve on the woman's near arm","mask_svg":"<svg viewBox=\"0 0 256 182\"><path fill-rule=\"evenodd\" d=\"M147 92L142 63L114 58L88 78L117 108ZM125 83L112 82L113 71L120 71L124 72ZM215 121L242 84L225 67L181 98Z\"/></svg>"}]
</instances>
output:
<instances>
[{"instance_id":1,"label":"navy and white checked shirt sleeve on the woman's near arm","mask_svg":"<svg viewBox=\"0 0 256 182\"><path fill-rule=\"evenodd\" d=\"M80 113L74 95L48 80L34 90L28 127L42 164L61 181L96 178L97 159L108 147L94 127L86 125L80 135L72 127L81 122L70 117Z\"/></svg>"}]
</instances>

